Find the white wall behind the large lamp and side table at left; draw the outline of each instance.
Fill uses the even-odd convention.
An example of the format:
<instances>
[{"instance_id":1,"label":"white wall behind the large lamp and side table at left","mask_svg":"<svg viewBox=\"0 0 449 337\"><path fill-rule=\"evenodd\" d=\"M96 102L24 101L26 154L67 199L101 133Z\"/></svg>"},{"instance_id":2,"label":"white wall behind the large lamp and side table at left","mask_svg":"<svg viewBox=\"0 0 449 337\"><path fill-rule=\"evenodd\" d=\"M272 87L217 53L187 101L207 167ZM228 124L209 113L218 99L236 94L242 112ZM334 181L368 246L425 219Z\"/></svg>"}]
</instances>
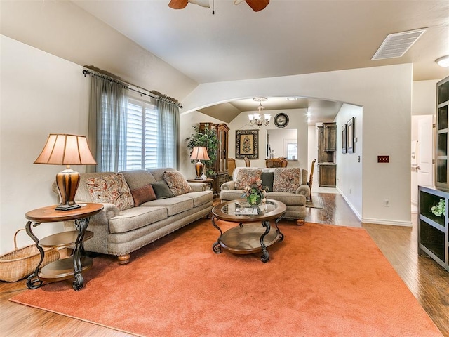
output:
<instances>
[{"instance_id":1,"label":"white wall behind the large lamp and side table at left","mask_svg":"<svg viewBox=\"0 0 449 337\"><path fill-rule=\"evenodd\" d=\"M25 213L58 203L51 192L56 165L33 164L48 133L87 134L89 81L82 67L0 36L0 253L13 250L13 234L25 227ZM73 166L83 172L84 166ZM42 224L40 235L62 225ZM32 244L27 234L18 245Z\"/></svg>"}]
</instances>

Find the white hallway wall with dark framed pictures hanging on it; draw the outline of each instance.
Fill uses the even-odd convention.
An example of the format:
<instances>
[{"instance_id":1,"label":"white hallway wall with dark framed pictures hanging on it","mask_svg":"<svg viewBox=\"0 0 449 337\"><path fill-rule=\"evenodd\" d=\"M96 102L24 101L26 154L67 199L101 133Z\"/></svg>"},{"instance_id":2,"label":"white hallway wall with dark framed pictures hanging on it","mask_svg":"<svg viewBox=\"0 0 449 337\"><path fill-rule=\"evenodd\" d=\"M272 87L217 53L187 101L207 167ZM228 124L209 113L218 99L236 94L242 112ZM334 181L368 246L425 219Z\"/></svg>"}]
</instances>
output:
<instances>
[{"instance_id":1,"label":"white hallway wall with dark framed pictures hanging on it","mask_svg":"<svg viewBox=\"0 0 449 337\"><path fill-rule=\"evenodd\" d=\"M342 126L354 117L354 152L342 153ZM337 190L358 218L362 218L363 190L363 108L344 104L334 120L337 123ZM360 159L360 161L359 161ZM381 165L381 164L377 164ZM383 164L387 165L387 164Z\"/></svg>"}]
</instances>

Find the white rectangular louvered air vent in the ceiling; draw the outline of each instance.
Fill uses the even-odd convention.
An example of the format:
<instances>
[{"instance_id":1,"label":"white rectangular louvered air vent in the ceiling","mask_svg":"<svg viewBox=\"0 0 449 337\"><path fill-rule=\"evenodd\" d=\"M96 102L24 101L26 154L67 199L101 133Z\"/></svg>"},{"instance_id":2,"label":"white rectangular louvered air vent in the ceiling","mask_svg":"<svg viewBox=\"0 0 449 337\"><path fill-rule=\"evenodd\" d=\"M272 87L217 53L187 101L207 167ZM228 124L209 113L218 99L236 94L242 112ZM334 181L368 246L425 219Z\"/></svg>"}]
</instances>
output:
<instances>
[{"instance_id":1,"label":"white rectangular louvered air vent in the ceiling","mask_svg":"<svg viewBox=\"0 0 449 337\"><path fill-rule=\"evenodd\" d=\"M401 58L425 31L426 29L416 29L388 34L371 60Z\"/></svg>"}]
</instances>

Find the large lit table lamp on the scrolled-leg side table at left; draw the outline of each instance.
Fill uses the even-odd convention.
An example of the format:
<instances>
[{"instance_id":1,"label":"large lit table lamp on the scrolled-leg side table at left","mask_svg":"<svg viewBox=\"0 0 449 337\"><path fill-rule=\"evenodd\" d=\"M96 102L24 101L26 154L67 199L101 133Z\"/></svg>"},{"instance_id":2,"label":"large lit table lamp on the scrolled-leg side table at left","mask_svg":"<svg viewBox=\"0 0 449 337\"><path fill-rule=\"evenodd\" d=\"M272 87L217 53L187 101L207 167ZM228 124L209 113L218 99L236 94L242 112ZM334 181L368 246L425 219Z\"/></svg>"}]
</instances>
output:
<instances>
[{"instance_id":1,"label":"large lit table lamp on the scrolled-leg side table at left","mask_svg":"<svg viewBox=\"0 0 449 337\"><path fill-rule=\"evenodd\" d=\"M69 211L81 207L75 202L81 176L70 169L70 165L97 164L87 145L86 136L51 133L34 164L67 165L67 169L56 175L60 204L55 209Z\"/></svg>"}]
</instances>

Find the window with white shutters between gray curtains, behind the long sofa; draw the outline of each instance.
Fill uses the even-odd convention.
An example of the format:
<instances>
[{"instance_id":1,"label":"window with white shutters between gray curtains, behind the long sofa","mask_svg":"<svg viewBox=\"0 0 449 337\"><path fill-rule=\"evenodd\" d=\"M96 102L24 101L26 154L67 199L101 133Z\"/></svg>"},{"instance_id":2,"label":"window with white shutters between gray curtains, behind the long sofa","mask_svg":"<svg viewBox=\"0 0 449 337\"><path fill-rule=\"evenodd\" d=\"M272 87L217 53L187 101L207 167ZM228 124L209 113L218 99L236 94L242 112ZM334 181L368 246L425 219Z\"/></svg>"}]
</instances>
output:
<instances>
[{"instance_id":1,"label":"window with white shutters between gray curtains, behind the long sofa","mask_svg":"<svg viewBox=\"0 0 449 337\"><path fill-rule=\"evenodd\" d=\"M156 105L130 98L126 121L126 170L157 167L158 133Z\"/></svg>"}]
</instances>

